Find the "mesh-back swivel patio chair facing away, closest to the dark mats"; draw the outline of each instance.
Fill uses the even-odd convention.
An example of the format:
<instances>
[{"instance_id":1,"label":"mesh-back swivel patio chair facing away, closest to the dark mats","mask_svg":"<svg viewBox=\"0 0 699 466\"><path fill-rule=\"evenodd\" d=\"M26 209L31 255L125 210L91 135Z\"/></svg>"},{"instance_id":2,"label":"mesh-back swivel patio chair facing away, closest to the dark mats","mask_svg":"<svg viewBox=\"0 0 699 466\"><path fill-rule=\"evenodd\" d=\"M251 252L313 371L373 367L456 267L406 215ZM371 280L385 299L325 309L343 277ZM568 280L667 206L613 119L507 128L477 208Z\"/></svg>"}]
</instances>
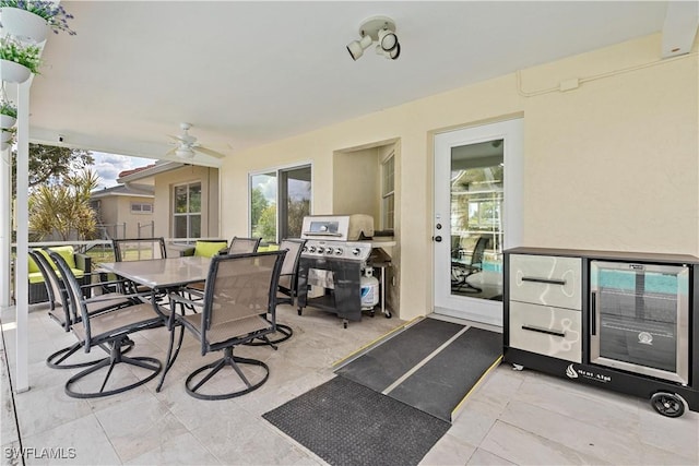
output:
<instances>
[{"instance_id":1,"label":"mesh-back swivel patio chair facing away, closest to the dark mats","mask_svg":"<svg viewBox=\"0 0 699 466\"><path fill-rule=\"evenodd\" d=\"M179 294L170 294L168 328L170 340L167 371L179 354L185 328L201 344L201 355L223 351L223 357L203 366L187 377L187 393L200 399L227 399L259 389L270 375L269 367L260 360L234 356L234 348L254 338L262 338L276 330L276 290L286 251L228 254L212 258L203 299L194 301ZM181 314L176 312L180 304ZM186 314L185 306L200 307L201 312ZM180 327L179 342L173 353L175 331ZM200 390L222 369L235 371L240 382L225 380L227 393L203 393ZM257 370L256 370L257 369ZM205 375L199 378L202 372ZM213 379L215 380L215 379ZM221 387L221 385L218 386Z\"/></svg>"}]
</instances>

